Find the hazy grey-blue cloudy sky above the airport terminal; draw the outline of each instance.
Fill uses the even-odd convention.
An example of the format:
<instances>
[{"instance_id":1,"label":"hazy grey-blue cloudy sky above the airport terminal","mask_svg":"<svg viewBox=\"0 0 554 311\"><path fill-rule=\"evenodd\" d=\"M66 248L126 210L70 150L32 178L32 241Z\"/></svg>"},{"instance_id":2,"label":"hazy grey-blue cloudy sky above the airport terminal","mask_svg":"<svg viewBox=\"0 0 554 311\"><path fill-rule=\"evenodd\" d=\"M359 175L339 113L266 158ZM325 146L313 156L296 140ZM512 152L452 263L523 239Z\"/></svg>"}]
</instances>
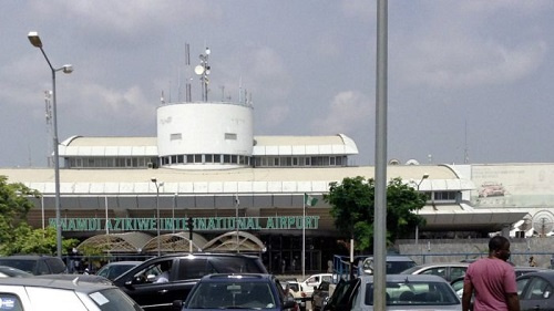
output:
<instances>
[{"instance_id":1,"label":"hazy grey-blue cloudy sky above the airport terminal","mask_svg":"<svg viewBox=\"0 0 554 311\"><path fill-rule=\"evenodd\" d=\"M389 0L387 158L551 163L554 1ZM44 167L44 91L57 72L60 142L156 136L209 48L209 100L254 104L255 135L345 134L375 165L376 0L3 0L0 167ZM189 45L191 64L185 63Z\"/></svg>"}]
</instances>

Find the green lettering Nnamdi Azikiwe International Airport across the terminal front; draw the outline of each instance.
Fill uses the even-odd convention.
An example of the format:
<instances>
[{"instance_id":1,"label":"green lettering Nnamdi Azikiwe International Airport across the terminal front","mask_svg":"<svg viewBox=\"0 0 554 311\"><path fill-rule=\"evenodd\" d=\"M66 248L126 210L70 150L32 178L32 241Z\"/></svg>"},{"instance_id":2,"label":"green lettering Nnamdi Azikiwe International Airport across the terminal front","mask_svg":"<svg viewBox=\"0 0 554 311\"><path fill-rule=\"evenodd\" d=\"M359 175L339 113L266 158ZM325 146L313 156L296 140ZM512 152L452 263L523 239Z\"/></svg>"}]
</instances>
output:
<instances>
[{"instance_id":1,"label":"green lettering Nnamdi Azikiwe International Airport across the terminal front","mask_svg":"<svg viewBox=\"0 0 554 311\"><path fill-rule=\"evenodd\" d=\"M193 217L193 230L297 230L302 229L301 216L276 217ZM188 230L188 218L160 218L160 230ZM157 230L156 218L62 218L63 231L148 231ZM49 224L55 227L55 218ZM319 216L306 216L305 228L318 229Z\"/></svg>"}]
</instances>

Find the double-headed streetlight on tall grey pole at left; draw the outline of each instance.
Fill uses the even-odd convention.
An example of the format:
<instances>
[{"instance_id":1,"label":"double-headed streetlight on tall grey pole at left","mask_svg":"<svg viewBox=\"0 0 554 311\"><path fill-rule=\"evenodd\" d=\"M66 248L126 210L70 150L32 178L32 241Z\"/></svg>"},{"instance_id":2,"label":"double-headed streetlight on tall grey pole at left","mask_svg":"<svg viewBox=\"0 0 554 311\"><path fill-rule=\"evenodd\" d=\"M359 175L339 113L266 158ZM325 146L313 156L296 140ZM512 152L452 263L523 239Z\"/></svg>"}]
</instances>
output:
<instances>
[{"instance_id":1,"label":"double-headed streetlight on tall grey pole at left","mask_svg":"<svg viewBox=\"0 0 554 311\"><path fill-rule=\"evenodd\" d=\"M54 126L53 133L53 146L54 146L54 189L55 189L55 237L57 237L57 248L58 248L58 257L62 258L62 227L61 227L61 206L60 206L60 158L59 158L59 139L58 139L58 115L57 115L57 102L55 102L55 73L58 71L63 71L63 73L72 73L73 66L70 64L65 64L62 68L54 69L52 63L44 53L42 49L42 41L40 40L39 33L35 31L31 31L28 34L29 41L34 48L39 48L44 55L44 59L50 66L52 72L52 123Z\"/></svg>"}]
</instances>

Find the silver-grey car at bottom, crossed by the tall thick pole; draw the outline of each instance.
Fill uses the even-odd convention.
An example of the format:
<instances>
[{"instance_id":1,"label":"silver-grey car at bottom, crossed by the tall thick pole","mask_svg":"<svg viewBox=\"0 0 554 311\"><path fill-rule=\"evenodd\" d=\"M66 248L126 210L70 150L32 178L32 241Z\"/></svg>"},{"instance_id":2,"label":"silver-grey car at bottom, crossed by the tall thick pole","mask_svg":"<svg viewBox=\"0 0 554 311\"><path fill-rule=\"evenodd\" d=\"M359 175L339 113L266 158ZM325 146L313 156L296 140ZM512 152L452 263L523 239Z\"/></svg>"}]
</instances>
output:
<instances>
[{"instance_id":1,"label":"silver-grey car at bottom, crossed by the tall thick pole","mask_svg":"<svg viewBox=\"0 0 554 311\"><path fill-rule=\"evenodd\" d=\"M338 298L334 297L337 296ZM387 310L461 310L462 302L441 277L387 274ZM361 276L337 287L324 310L372 311L373 276Z\"/></svg>"}]
</instances>

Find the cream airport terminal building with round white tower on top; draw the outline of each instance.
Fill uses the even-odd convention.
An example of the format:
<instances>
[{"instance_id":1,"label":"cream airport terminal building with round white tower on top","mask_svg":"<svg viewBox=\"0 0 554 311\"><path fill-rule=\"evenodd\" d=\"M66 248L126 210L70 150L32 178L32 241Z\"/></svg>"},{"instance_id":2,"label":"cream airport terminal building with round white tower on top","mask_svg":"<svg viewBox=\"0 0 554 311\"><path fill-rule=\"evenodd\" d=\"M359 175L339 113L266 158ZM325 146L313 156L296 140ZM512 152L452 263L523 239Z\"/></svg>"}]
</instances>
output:
<instances>
[{"instance_id":1,"label":"cream airport terminal building with round white tower on top","mask_svg":"<svg viewBox=\"0 0 554 311\"><path fill-rule=\"evenodd\" d=\"M329 183L375 172L349 164L358 154L351 138L256 136L247 101L162 104L156 120L154 137L74 136L60 144L64 237L107 240L112 252L155 253L157 239L162 252L187 250L188 242L202 250L259 252L270 271L299 270L304 238L308 271L325 270L340 251L345 237L321 197ZM33 227L55 225L52 168L1 168L0 175L43 194L29 214ZM553 165L391 162L387 175L428 194L419 238L530 235L537 224L544 224L541 234L552 230L545 231L554 206ZM547 188L519 193L522 176ZM319 198L317 205L306 207L305 195ZM535 221L537 211L543 222Z\"/></svg>"}]
</instances>

